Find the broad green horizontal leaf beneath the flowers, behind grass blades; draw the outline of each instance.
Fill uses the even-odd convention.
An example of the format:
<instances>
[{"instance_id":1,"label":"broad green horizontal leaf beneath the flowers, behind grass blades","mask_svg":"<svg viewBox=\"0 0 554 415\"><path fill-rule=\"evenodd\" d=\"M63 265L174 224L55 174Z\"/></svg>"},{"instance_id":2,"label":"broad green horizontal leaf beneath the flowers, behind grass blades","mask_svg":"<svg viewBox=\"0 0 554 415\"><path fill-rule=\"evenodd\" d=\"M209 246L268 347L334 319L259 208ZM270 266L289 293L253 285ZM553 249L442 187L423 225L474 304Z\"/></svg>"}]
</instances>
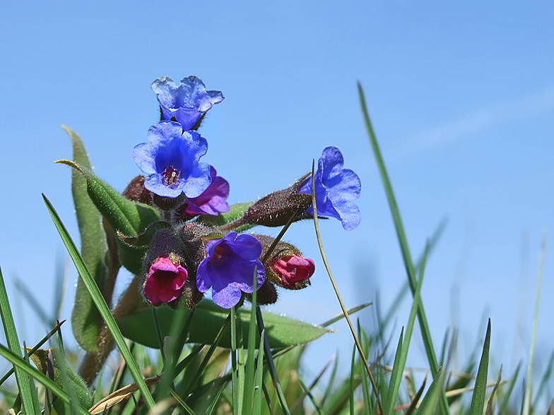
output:
<instances>
[{"instance_id":1,"label":"broad green horizontal leaf beneath the flowers, behind grass blades","mask_svg":"<svg viewBox=\"0 0 554 415\"><path fill-rule=\"evenodd\" d=\"M170 308L158 308L158 323L162 337L170 335L172 321L175 318L183 318L183 316L178 315L179 313L187 313L188 315L191 311L189 309L173 311ZM228 315L228 310L216 306L213 301L202 300L194 308L187 342L212 344ZM305 344L317 339L326 332L332 331L318 325L283 317L282 315L267 312L264 312L263 315L269 344L272 349L295 344ZM246 338L250 327L250 310L240 308L237 311L237 319L240 319L242 336ZM153 349L160 347L155 337L156 329L150 308L144 308L136 313L118 318L117 325L122 330L124 337ZM223 338L219 346L228 348L230 345L231 335L228 327L223 332Z\"/></svg>"}]
</instances>

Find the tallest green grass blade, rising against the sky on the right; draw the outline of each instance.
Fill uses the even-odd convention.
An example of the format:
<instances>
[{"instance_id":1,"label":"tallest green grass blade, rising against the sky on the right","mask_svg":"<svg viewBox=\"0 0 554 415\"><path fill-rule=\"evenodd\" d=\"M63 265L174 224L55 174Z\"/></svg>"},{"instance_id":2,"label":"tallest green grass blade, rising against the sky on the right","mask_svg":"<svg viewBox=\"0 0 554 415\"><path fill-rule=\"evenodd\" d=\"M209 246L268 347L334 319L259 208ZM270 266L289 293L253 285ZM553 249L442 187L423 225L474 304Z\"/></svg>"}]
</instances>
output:
<instances>
[{"instance_id":1,"label":"tallest green grass blade, rising against the sky on the right","mask_svg":"<svg viewBox=\"0 0 554 415\"><path fill-rule=\"evenodd\" d=\"M370 116L367 113L367 106L365 104L365 96L362 89L362 85L358 83L358 92L360 95L360 104L362 107L362 112L364 116L365 126L367 128L367 133L370 137L371 146L373 149L373 154L375 155L375 160L377 161L377 167L379 168L379 173L381 174L381 180L383 182L385 193L387 194L387 200L389 201L389 207L391 210L391 215L394 221L394 227L396 229L396 235L398 236L400 248L402 252L402 258L404 261L404 266L406 267L406 273L408 275L408 282L410 284L410 289L412 294L415 294L415 287L417 281L415 279L415 267L413 266L413 261L410 254L410 248L408 246L408 239L406 238L406 232L402 224L402 219L400 217L400 210L396 203L396 198L394 197L394 192L392 191L391 181L389 180L389 175L387 174L387 169L385 168L383 157L381 155L381 150L379 150L379 144L377 143L377 138L375 132L373 131L373 126L370 121ZM427 353L429 366L431 368L431 373L433 378L435 378L439 371L439 364L437 362L437 355L435 354L435 348L432 344L431 332L429 330L429 325L427 323L427 317L425 316L425 311L423 309L423 303L419 303L418 306L418 321L421 329L421 335L423 338L423 344L425 344L425 351ZM449 414L448 402L444 393L440 397L440 409L442 414Z\"/></svg>"}]
</instances>

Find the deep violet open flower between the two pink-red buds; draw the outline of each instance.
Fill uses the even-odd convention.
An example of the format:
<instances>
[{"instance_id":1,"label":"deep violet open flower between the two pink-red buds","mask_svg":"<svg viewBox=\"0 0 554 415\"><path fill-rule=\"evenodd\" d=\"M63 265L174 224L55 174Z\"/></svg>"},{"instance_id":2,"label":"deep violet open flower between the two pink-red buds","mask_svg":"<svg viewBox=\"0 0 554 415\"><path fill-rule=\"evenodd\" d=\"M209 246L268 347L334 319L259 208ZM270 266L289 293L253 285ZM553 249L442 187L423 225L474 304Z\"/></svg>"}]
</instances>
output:
<instances>
[{"instance_id":1,"label":"deep violet open flower between the two pink-red buds","mask_svg":"<svg viewBox=\"0 0 554 415\"><path fill-rule=\"evenodd\" d=\"M261 243L249 234L229 232L222 239L206 242L206 258L196 272L196 287L206 292L211 287L213 301L220 307L237 305L242 292L254 291L254 268L257 272L256 286L266 280L266 271L259 258Z\"/></svg>"}]
</instances>

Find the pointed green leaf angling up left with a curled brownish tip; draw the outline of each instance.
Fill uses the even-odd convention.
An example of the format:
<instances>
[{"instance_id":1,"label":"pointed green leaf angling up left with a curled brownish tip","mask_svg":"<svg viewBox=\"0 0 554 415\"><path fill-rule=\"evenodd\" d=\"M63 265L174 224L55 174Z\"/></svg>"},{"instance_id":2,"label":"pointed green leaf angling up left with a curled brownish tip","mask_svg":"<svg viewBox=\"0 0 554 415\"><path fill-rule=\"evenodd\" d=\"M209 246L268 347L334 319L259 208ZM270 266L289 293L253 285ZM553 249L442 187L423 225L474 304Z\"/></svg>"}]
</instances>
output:
<instances>
[{"instance_id":1,"label":"pointed green leaf angling up left with a curled brownish tip","mask_svg":"<svg viewBox=\"0 0 554 415\"><path fill-rule=\"evenodd\" d=\"M124 236L139 236L146 228L160 220L160 212L143 203L132 202L124 198L105 181L99 179L90 170L69 160L58 160L57 163L73 167L86 179L88 196L93 201L102 217L110 227ZM146 248L132 248L118 240L119 260L134 275L142 272L142 260Z\"/></svg>"}]
</instances>

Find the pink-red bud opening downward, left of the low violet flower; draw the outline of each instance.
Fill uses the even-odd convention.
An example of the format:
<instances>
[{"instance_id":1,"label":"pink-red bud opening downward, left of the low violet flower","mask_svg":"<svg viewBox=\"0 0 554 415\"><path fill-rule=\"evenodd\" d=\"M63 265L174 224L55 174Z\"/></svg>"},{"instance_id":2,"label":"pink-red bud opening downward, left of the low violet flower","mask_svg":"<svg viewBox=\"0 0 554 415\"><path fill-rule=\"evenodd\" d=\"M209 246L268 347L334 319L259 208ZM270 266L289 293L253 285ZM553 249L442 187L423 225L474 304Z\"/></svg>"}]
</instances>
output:
<instances>
[{"instance_id":1,"label":"pink-red bud opening downward, left of the low violet flower","mask_svg":"<svg viewBox=\"0 0 554 415\"><path fill-rule=\"evenodd\" d=\"M181 295L187 281L187 270L170 258L158 258L151 265L143 285L144 297L149 303L169 303Z\"/></svg>"}]
</instances>

